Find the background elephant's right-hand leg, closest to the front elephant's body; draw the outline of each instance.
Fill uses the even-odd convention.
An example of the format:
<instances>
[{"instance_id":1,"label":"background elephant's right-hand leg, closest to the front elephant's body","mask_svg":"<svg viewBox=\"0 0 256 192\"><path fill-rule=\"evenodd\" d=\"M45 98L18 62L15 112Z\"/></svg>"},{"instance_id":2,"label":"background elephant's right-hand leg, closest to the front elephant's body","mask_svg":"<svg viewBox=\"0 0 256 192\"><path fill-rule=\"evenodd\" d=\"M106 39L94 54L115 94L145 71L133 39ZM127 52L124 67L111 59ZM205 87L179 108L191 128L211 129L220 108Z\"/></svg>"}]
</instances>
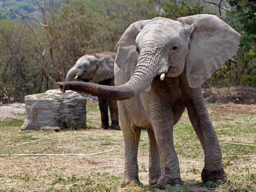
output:
<instances>
[{"instance_id":1,"label":"background elephant's right-hand leg, closest to the front elephant's body","mask_svg":"<svg viewBox=\"0 0 256 192\"><path fill-rule=\"evenodd\" d=\"M111 125L109 128L120 130L121 128L119 126L117 102L112 100L108 100L108 102L109 102L109 111L110 111L110 118L111 118Z\"/></svg>"}]
</instances>

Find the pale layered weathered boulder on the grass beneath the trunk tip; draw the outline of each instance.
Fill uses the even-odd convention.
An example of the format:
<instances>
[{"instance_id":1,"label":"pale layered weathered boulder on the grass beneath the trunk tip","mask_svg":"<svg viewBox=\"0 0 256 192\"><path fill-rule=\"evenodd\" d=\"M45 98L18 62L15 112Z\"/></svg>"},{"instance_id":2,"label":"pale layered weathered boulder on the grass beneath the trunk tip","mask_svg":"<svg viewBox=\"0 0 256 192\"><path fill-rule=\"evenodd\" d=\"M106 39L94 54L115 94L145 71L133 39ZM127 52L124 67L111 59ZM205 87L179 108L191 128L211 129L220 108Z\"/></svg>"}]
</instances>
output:
<instances>
[{"instance_id":1,"label":"pale layered weathered boulder on the grass beneath the trunk tip","mask_svg":"<svg viewBox=\"0 0 256 192\"><path fill-rule=\"evenodd\" d=\"M86 99L74 91L59 89L27 95L26 120L22 130L38 131L43 126L67 128L70 124L86 124Z\"/></svg>"}]
</instances>

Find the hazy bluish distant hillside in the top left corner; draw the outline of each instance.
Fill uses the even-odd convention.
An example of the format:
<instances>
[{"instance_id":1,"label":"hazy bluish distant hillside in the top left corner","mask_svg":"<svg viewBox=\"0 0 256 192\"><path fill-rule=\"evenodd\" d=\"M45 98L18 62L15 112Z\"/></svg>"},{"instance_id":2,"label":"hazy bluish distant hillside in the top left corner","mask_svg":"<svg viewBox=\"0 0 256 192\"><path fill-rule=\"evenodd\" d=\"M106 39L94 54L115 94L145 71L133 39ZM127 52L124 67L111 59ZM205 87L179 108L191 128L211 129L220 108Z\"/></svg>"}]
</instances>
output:
<instances>
[{"instance_id":1,"label":"hazy bluish distant hillside in the top left corner","mask_svg":"<svg viewBox=\"0 0 256 192\"><path fill-rule=\"evenodd\" d=\"M38 3L42 4L43 0L38 0ZM16 16L13 15L10 11L7 11L4 7L14 10L18 13L18 9L22 10L24 14L33 14L37 15L39 11L38 5L34 0L0 0L0 19L9 18L15 19Z\"/></svg>"}]
</instances>

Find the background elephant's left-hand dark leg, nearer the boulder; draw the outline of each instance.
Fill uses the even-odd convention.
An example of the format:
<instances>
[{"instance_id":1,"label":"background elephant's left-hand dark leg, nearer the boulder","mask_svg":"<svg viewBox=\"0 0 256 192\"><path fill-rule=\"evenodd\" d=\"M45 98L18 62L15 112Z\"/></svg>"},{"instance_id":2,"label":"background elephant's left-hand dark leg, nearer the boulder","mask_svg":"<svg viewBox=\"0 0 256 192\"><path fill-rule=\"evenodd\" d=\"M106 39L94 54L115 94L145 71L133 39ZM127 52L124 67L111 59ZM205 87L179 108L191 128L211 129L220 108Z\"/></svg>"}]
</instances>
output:
<instances>
[{"instance_id":1,"label":"background elephant's left-hand dark leg, nearer the boulder","mask_svg":"<svg viewBox=\"0 0 256 192\"><path fill-rule=\"evenodd\" d=\"M109 128L109 115L108 115L108 100L98 97L99 111L101 112L101 127L103 129Z\"/></svg>"}]
</instances>

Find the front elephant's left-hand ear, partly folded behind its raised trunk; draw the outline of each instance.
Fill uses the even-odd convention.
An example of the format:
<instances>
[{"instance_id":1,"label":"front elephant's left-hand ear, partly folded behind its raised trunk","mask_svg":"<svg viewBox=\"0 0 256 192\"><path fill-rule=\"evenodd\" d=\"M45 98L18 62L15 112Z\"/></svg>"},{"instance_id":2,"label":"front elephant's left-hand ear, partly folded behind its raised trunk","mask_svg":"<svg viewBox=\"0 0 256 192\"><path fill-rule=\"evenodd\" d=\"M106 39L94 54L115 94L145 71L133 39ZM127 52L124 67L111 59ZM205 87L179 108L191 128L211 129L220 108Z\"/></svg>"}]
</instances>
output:
<instances>
[{"instance_id":1,"label":"front elephant's left-hand ear, partly folded behind its raised trunk","mask_svg":"<svg viewBox=\"0 0 256 192\"><path fill-rule=\"evenodd\" d=\"M132 76L133 72L135 71L135 67L137 65L139 59L139 53L136 50L136 37L151 20L141 20L135 23L132 23L125 30L124 34L118 41L116 45L116 64L117 66L128 74L130 77Z\"/></svg>"}]
</instances>

